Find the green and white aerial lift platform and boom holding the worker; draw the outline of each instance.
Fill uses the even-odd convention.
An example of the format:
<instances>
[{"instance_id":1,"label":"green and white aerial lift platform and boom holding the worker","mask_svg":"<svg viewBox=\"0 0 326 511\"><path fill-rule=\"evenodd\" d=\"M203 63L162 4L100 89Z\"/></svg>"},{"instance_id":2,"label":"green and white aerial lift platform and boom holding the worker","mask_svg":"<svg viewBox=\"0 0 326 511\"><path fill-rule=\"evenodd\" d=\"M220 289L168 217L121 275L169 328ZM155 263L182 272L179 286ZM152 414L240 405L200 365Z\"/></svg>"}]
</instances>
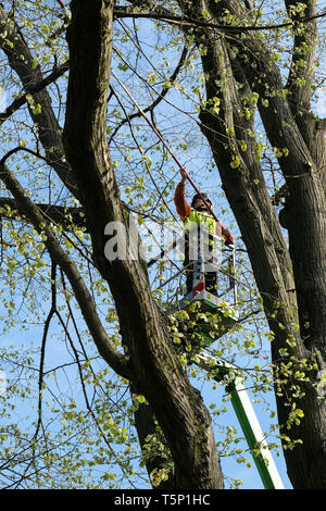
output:
<instances>
[{"instance_id":1,"label":"green and white aerial lift platform and boom holding the worker","mask_svg":"<svg viewBox=\"0 0 326 511\"><path fill-rule=\"evenodd\" d=\"M228 252L226 257L221 258L210 265L210 271L214 267L216 272L224 274L228 278L228 286L224 289L217 289L216 292L210 292L205 289L205 262L201 257L191 263L192 289L183 296L178 303L168 310L168 314L178 311L186 311L189 321L196 323L197 335L204 339L201 346L209 346L222 335L234 328L239 322L237 310L237 279L235 277L235 248L223 247L221 254ZM187 267L179 271L175 276L179 276L187 271ZM175 277L174 276L174 277ZM171 277L171 282L174 277ZM162 286L166 284L163 283ZM233 297L231 301L226 298ZM213 321L210 321L212 316ZM204 317L204 320L203 320ZM197 351L197 352L196 352ZM188 354L189 364L196 363L204 371L213 374L213 378L225 384L225 389L230 397L230 401L248 447L252 453L253 461L260 474L265 489L284 489L284 485L273 457L260 427L253 407L243 386L243 377L238 367L220 361L205 354L203 351L195 350Z\"/></svg>"}]
</instances>

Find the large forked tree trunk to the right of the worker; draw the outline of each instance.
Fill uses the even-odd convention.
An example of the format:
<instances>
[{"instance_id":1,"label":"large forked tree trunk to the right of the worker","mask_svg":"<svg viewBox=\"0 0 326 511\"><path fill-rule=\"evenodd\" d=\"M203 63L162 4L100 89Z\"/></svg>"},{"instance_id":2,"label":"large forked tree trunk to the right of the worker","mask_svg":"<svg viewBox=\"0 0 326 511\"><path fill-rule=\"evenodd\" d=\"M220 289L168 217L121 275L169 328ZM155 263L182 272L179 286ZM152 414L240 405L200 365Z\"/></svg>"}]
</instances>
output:
<instances>
[{"instance_id":1,"label":"large forked tree trunk to the right of the worker","mask_svg":"<svg viewBox=\"0 0 326 511\"><path fill-rule=\"evenodd\" d=\"M221 24L223 9L228 9L241 20L241 25L250 24L250 15L234 0L218 3L191 0L179 4L184 14L195 20L200 20L205 11L210 13L211 22ZM305 123L302 115L300 124L296 122L283 94L279 71L255 34L233 35L230 49L227 33L226 37L221 34L216 37L203 27L192 33L197 43L206 49L202 65L208 105L212 104L213 98L221 100L218 112L202 109L202 130L247 246L275 336L272 360L280 431L294 441L299 440L294 449L286 449L287 443L284 443L288 474L294 488L325 488L326 410L316 389L321 371L326 369L325 169L321 166L325 150L315 148L311 138L314 150L306 145L309 134L322 126L311 119L311 113L305 116ZM236 49L237 53L234 52ZM241 91L235 80L243 85L246 94L259 95L260 113L271 145L289 151L288 157L283 154L278 159L288 187L289 251L255 159L255 140L248 137L248 133L253 132L253 116L246 119L241 114ZM268 96L267 107L261 101L266 97L266 90L273 92ZM306 96L303 97L306 102ZM321 139L322 136L318 142ZM238 140L247 142L246 152L239 149ZM316 154L321 155L317 161L313 158ZM238 166L230 165L236 158ZM287 374L283 364L289 362L292 370ZM281 392L279 379L283 381ZM301 419L299 410L303 412Z\"/></svg>"}]
</instances>

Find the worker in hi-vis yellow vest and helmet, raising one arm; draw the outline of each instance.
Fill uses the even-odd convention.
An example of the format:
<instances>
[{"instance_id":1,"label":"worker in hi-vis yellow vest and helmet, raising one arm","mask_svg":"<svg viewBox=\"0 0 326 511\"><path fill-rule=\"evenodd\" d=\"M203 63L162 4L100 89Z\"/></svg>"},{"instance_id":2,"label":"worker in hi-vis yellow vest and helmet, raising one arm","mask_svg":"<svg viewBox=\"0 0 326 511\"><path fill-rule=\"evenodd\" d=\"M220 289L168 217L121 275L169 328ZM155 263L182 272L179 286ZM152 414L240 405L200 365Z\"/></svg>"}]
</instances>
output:
<instances>
[{"instance_id":1,"label":"worker in hi-vis yellow vest and helmet, raising one arm","mask_svg":"<svg viewBox=\"0 0 326 511\"><path fill-rule=\"evenodd\" d=\"M188 266L186 272L187 276L187 294L193 289L193 265L191 261L198 259L196 254L199 253L204 256L205 262L212 261L212 253L214 250L214 240L212 235L223 237L226 245L234 245L235 237L229 230L222 224L216 222L210 210L213 209L212 201L205 194L201 196L209 203L210 209L204 203L199 194L196 194L191 201L191 207L185 199L185 184L187 178L187 172L181 169L181 180L177 185L174 196L174 202L176 210L184 222L185 227L185 261L184 265ZM193 235L196 233L196 235ZM216 242L216 240L215 240ZM199 252L199 246L202 245L203 250ZM216 295L217 282L216 282L216 270L214 272L205 272L205 289L206 291Z\"/></svg>"}]
</instances>

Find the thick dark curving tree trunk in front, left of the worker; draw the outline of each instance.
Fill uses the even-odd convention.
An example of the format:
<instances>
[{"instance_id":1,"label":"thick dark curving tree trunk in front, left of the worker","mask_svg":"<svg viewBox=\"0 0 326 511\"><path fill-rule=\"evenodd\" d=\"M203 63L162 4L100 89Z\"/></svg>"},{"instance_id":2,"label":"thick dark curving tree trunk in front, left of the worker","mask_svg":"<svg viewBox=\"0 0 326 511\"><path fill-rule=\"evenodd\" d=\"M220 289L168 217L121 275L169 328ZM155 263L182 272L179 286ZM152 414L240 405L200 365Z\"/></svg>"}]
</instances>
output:
<instances>
[{"instance_id":1,"label":"thick dark curving tree trunk in front, left of the worker","mask_svg":"<svg viewBox=\"0 0 326 511\"><path fill-rule=\"evenodd\" d=\"M191 387L151 296L140 260L108 261L104 228L126 225L106 145L105 116L112 45L111 1L72 1L71 72L64 146L78 184L93 258L110 285L137 389L148 399L175 462L177 488L221 488L211 419Z\"/></svg>"}]
</instances>

